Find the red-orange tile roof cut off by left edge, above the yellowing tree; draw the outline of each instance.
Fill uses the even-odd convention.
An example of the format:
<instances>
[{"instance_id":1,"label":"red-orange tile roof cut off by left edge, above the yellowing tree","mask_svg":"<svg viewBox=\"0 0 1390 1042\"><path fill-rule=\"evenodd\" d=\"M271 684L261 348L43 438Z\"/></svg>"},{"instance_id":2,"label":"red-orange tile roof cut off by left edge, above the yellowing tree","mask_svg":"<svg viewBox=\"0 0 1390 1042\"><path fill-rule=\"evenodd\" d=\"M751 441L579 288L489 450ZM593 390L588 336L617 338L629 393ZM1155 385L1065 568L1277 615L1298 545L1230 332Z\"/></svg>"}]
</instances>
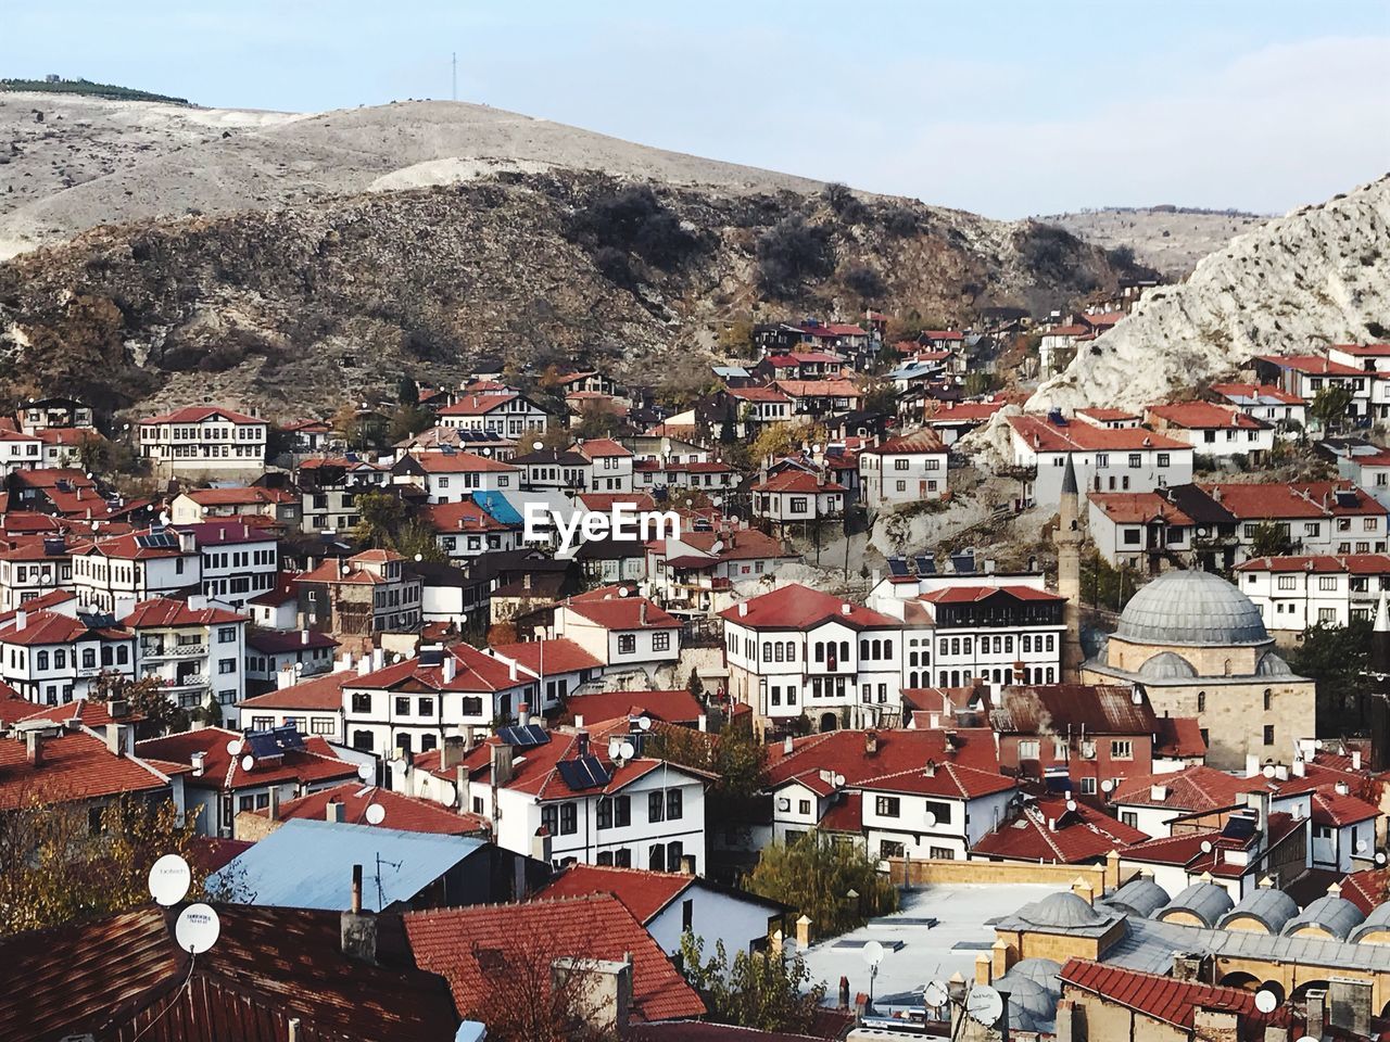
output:
<instances>
[{"instance_id":1,"label":"red-orange tile roof cut off by left edge, above the yellowing tree","mask_svg":"<svg viewBox=\"0 0 1390 1042\"><path fill-rule=\"evenodd\" d=\"M42 763L35 767L22 738L0 738L0 810L167 788L170 775L145 759L117 756L104 739L67 731L42 741Z\"/></svg>"}]
</instances>

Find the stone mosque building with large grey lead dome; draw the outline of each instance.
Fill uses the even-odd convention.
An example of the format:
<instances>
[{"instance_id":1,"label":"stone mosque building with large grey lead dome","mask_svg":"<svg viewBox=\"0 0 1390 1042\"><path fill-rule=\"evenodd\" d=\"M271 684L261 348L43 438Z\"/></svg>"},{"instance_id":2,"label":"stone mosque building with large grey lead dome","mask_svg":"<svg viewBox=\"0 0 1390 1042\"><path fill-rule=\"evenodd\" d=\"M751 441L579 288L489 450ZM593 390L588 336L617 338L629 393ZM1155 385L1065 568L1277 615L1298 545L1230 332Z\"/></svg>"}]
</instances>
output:
<instances>
[{"instance_id":1,"label":"stone mosque building with large grey lead dome","mask_svg":"<svg viewBox=\"0 0 1390 1042\"><path fill-rule=\"evenodd\" d=\"M1197 717L1207 763L1289 763L1316 734L1315 684L1275 652L1259 609L1219 575L1168 571L1141 588L1119 628L1081 663L1083 684L1134 684L1155 713Z\"/></svg>"}]
</instances>

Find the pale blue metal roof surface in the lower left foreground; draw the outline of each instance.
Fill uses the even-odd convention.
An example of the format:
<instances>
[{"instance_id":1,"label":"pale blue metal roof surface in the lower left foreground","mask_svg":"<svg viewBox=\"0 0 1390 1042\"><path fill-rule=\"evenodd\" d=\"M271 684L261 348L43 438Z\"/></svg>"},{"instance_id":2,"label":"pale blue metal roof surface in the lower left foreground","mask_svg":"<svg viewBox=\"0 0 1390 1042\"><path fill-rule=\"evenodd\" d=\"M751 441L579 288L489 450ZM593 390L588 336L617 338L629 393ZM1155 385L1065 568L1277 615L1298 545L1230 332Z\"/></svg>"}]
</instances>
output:
<instances>
[{"instance_id":1,"label":"pale blue metal roof surface in the lower left foreground","mask_svg":"<svg viewBox=\"0 0 1390 1042\"><path fill-rule=\"evenodd\" d=\"M227 884L245 904L342 910L352 899L352 867L360 864L361 904L381 911L484 846L466 836L293 818L213 874L208 886Z\"/></svg>"}]
</instances>

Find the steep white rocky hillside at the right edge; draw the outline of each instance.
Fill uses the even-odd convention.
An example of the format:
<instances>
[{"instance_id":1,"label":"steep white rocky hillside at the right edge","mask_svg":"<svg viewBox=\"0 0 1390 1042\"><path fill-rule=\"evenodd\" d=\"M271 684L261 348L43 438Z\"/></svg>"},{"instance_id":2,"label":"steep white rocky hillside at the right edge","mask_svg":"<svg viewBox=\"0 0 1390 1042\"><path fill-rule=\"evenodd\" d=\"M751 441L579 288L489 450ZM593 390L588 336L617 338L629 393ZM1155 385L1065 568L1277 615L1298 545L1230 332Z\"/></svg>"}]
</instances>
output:
<instances>
[{"instance_id":1,"label":"steep white rocky hillside at the right edge","mask_svg":"<svg viewBox=\"0 0 1390 1042\"><path fill-rule=\"evenodd\" d=\"M1140 407L1255 354L1390 338L1390 176L1294 210L1145 296L1029 408Z\"/></svg>"}]
</instances>

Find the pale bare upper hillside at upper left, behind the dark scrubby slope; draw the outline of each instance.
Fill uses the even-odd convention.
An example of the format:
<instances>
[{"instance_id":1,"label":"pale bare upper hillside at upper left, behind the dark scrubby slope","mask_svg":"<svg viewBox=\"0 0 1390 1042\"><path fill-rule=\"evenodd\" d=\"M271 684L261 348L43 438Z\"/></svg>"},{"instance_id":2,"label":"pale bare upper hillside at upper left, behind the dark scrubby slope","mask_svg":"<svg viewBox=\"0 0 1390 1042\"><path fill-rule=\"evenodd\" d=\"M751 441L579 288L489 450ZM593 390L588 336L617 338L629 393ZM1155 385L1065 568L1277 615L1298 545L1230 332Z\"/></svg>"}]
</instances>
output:
<instances>
[{"instance_id":1,"label":"pale bare upper hillside at upper left, behind the dark scrubby slope","mask_svg":"<svg viewBox=\"0 0 1390 1042\"><path fill-rule=\"evenodd\" d=\"M724 192L820 188L805 178L457 101L302 117L44 94L0 94L0 133L18 135L21 150L0 167L0 258L97 224L271 210L495 171L594 169ZM36 108L46 113L40 126L32 125ZM89 126L75 142L76 153L92 154L81 167L72 161L68 129L79 121ZM101 163L106 147L117 157ZM51 190L56 171L68 167L74 169ZM32 176L49 183L29 190L24 182Z\"/></svg>"}]
</instances>

